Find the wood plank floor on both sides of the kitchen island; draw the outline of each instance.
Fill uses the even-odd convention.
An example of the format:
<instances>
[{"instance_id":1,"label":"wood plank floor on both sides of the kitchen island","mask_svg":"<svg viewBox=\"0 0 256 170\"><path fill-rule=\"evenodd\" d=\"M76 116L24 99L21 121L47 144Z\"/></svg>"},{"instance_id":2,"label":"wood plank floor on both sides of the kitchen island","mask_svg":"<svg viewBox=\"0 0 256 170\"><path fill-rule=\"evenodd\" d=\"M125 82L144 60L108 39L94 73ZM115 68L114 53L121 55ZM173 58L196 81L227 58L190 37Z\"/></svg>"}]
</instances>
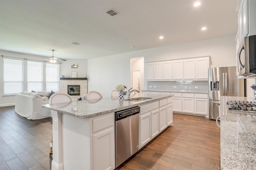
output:
<instances>
[{"instance_id":1,"label":"wood plank floor on both sides of the kitchen island","mask_svg":"<svg viewBox=\"0 0 256 170\"><path fill-rule=\"evenodd\" d=\"M220 131L205 117L173 115L173 126L120 170L220 170ZM51 118L28 120L0 107L0 170L50 170Z\"/></svg>"}]
</instances>

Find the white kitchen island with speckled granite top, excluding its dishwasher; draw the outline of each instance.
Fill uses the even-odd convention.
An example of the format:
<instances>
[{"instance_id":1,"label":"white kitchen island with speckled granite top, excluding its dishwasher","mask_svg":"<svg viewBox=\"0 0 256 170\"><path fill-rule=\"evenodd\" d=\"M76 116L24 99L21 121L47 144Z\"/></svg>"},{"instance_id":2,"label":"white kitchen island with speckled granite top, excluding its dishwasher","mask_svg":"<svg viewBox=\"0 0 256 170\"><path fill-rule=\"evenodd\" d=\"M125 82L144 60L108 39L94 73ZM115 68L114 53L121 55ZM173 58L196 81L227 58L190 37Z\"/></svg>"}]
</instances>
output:
<instances>
[{"instance_id":1,"label":"white kitchen island with speckled granite top, excluding its dishwasher","mask_svg":"<svg viewBox=\"0 0 256 170\"><path fill-rule=\"evenodd\" d=\"M172 96L171 94L138 93L131 98L150 99L127 101L115 97L43 105L42 107L52 112L52 170L112 170L116 168L114 112L141 106L141 112L144 115L140 116L140 135L142 131L143 136L139 141L143 143L146 141L144 132L148 125L145 123L148 119L143 118L152 110L158 109L159 111L158 114L154 114L159 115L156 126L158 133L156 134L160 133L160 126L163 123L164 128L172 125ZM150 129L149 132L151 132ZM143 145L139 145L139 148Z\"/></svg>"}]
</instances>

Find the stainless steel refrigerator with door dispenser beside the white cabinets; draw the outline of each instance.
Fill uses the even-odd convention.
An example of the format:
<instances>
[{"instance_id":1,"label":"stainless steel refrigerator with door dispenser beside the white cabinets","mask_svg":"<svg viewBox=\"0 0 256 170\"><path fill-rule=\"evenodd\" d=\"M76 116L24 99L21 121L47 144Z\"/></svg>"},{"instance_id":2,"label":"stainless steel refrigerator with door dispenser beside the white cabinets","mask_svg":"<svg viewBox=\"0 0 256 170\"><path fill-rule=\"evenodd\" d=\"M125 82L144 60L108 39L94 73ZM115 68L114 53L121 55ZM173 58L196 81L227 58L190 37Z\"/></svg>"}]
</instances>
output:
<instances>
[{"instance_id":1,"label":"stainless steel refrigerator with door dispenser beside the white cabinets","mask_svg":"<svg viewBox=\"0 0 256 170\"><path fill-rule=\"evenodd\" d=\"M209 68L209 119L220 115L220 96L245 96L244 79L236 76L236 66Z\"/></svg>"}]
</instances>

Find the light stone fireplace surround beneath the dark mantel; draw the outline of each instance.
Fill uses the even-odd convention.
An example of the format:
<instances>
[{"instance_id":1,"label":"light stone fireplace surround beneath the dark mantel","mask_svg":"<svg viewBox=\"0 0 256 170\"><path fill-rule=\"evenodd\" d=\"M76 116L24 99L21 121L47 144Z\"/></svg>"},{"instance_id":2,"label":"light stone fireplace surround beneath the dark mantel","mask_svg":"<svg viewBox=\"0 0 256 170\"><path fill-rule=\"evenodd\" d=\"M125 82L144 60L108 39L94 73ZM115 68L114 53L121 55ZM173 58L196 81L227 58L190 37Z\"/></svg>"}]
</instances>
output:
<instances>
[{"instance_id":1,"label":"light stone fireplace surround beneath the dark mantel","mask_svg":"<svg viewBox=\"0 0 256 170\"><path fill-rule=\"evenodd\" d=\"M81 96L87 94L87 80L80 80L77 78L60 80L60 92L68 94L68 85L80 85L80 96L71 96L73 101L76 101Z\"/></svg>"}]
</instances>

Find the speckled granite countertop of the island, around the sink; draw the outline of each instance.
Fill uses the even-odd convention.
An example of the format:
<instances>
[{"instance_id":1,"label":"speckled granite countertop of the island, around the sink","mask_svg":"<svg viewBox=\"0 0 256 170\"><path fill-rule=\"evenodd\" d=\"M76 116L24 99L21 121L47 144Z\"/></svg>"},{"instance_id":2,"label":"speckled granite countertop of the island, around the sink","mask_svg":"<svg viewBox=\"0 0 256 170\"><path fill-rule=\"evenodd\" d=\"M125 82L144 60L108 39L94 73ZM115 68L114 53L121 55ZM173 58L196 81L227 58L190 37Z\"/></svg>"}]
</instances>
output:
<instances>
[{"instance_id":1,"label":"speckled granite countertop of the island, around the sink","mask_svg":"<svg viewBox=\"0 0 256 170\"><path fill-rule=\"evenodd\" d=\"M113 98L101 98L92 100L80 100L59 104L46 104L42 105L43 108L58 111L80 118L93 117L104 113L110 113L112 111L118 111L134 106L143 105L146 103L162 100L172 97L172 94L150 94L150 93L136 93L131 98L146 97L152 98L140 102L125 101L127 96L124 96L124 100L119 100L118 97Z\"/></svg>"}]
</instances>

